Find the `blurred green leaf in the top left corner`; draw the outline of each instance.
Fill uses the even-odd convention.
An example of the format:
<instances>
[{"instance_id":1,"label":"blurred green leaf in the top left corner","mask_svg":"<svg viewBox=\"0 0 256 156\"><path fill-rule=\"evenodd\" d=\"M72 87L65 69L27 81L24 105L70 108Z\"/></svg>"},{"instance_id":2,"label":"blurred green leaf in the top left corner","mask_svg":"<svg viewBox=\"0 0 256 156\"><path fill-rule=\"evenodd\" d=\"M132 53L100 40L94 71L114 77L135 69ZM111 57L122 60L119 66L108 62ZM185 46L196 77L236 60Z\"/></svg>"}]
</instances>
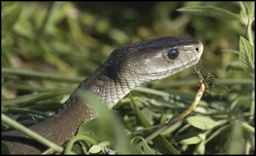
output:
<instances>
[{"instance_id":1,"label":"blurred green leaf in the top left corner","mask_svg":"<svg viewBox=\"0 0 256 156\"><path fill-rule=\"evenodd\" d=\"M12 26L19 18L21 9L21 2L16 2L13 5L7 5L2 9L2 31L11 30Z\"/></svg>"}]
</instances>

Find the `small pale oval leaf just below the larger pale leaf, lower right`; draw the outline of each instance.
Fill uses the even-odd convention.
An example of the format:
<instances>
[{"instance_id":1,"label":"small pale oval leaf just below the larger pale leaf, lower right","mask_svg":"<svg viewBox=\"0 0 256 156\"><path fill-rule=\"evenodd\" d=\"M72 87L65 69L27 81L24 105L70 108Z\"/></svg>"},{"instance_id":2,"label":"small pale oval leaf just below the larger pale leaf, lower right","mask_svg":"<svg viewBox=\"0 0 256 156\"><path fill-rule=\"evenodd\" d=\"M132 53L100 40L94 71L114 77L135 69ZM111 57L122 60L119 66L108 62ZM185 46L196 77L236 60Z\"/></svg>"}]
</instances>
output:
<instances>
[{"instance_id":1,"label":"small pale oval leaf just below the larger pale leaf, lower right","mask_svg":"<svg viewBox=\"0 0 256 156\"><path fill-rule=\"evenodd\" d=\"M211 118L203 117L203 116L189 117L187 118L187 122L192 126L199 128L201 130L208 130L210 128L213 128L216 124Z\"/></svg>"}]
</instances>

